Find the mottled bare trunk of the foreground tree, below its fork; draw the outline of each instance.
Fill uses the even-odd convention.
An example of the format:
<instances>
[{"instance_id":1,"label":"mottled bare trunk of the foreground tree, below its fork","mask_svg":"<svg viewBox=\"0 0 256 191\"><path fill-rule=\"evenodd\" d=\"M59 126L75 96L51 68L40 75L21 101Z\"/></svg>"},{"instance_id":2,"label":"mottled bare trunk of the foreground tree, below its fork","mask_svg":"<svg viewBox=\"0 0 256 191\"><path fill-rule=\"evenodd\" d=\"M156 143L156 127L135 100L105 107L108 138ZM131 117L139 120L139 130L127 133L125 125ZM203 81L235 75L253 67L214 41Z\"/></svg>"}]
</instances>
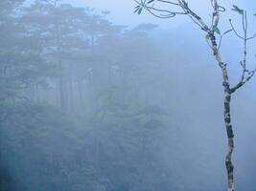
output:
<instances>
[{"instance_id":1,"label":"mottled bare trunk of the foreground tree, below its fork","mask_svg":"<svg viewBox=\"0 0 256 191\"><path fill-rule=\"evenodd\" d=\"M230 116L230 101L231 101L231 94L225 91L225 99L224 99L224 120L225 120L225 127L226 133L228 138L228 145L227 145L227 154L225 157L225 166L227 170L227 178L228 178L228 191L234 191L234 166L232 164L232 153L234 150L234 134L231 125L231 116Z\"/></svg>"}]
</instances>

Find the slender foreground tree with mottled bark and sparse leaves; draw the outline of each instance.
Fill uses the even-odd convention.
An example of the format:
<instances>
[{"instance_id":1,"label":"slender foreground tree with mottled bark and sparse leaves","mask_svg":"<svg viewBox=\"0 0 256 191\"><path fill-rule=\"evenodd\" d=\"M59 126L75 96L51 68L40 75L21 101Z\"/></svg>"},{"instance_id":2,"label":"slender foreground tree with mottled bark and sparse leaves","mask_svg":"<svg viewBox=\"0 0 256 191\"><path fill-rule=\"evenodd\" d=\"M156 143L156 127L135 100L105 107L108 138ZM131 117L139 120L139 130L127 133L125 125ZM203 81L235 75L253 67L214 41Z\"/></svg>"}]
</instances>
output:
<instances>
[{"instance_id":1,"label":"slender foreground tree with mottled bark and sparse leaves","mask_svg":"<svg viewBox=\"0 0 256 191\"><path fill-rule=\"evenodd\" d=\"M221 74L223 78L222 86L224 92L224 122L225 128L228 138L228 147L227 153L225 157L225 166L227 170L227 177L228 177L228 191L234 191L234 166L232 164L232 153L234 150L234 133L231 124L231 115L230 115L230 102L231 96L240 88L244 86L244 84L251 79L251 77L255 74L256 68L254 70L248 70L246 63L247 63L247 42L253 39L256 34L252 36L248 36L247 34L247 14L246 11L240 9L239 7L233 5L232 11L238 12L243 19L242 28L243 34L240 34L232 24L232 20L229 19L231 29L221 33L219 26L220 26L220 19L221 19L221 12L226 11L223 8L218 0L211 0L211 5L213 7L213 12L211 15L211 25L207 25L206 22L198 15L197 12L191 10L188 2L185 0L134 0L138 5L135 7L134 12L140 14L143 10L149 11L153 16L158 18L173 18L176 15L187 15L191 18L191 20L198 25L201 31L206 33L206 40L208 45L211 48L211 51L217 61L221 69ZM171 9L165 9L166 5L170 5L174 7L174 11ZM243 40L244 42L244 57L243 60L240 61L242 66L242 76L240 81L235 85L231 86L229 80L229 73L227 71L227 64L222 60L221 56L221 40L222 37L228 33L234 32L235 35Z\"/></svg>"}]
</instances>

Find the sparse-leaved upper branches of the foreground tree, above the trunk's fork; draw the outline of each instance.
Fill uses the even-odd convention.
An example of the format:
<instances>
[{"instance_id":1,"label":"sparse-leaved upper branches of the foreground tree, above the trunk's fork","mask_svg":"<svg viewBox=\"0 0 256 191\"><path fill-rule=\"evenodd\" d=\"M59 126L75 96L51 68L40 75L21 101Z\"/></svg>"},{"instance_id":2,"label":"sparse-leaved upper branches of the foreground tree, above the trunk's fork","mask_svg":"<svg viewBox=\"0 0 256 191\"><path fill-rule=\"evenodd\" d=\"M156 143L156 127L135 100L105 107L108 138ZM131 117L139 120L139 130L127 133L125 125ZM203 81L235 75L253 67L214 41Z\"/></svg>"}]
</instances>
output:
<instances>
[{"instance_id":1,"label":"sparse-leaved upper branches of the foreground tree, above the trunk's fork","mask_svg":"<svg viewBox=\"0 0 256 191\"><path fill-rule=\"evenodd\" d=\"M198 25L198 27L203 31L206 32L206 40L209 45L209 47L213 50L214 54L216 55L217 52L219 52L221 48L221 42L223 36L228 32L234 32L235 35L242 39L244 41L244 58L243 61L241 61L242 66L242 76L241 80L235 85L233 88L228 87L228 91L230 94L236 92L238 89L240 89L246 82L248 82L251 77L256 73L256 67L253 70L248 70L246 66L246 60L247 60L247 42L254 37L256 37L256 33L248 36L247 35L247 14L246 11L238 8L237 6L233 6L232 11L237 11L239 14L243 16L243 34L239 34L237 30L235 29L231 19L229 19L230 27L231 29L223 32L221 34L221 31L219 29L219 23L220 23L220 15L221 12L226 11L225 8L223 8L219 3L218 0L210 0L211 5L214 9L212 15L211 15L211 25L208 26L206 22L196 13L195 11L192 11L189 7L188 2L185 0L134 0L138 6L135 8L134 12L137 12L140 14L143 10L149 11L152 15L158 18L173 18L176 15L187 15L191 18L191 20ZM166 4L171 5L170 9L163 9ZM180 10L180 11L173 11L174 10ZM218 35L216 35L218 34ZM219 38L219 40L217 40ZM211 43L209 43L209 40ZM215 49L217 48L217 49ZM218 53L220 54L220 53ZM221 67L222 74L224 77L224 84L228 83L228 75L226 72L226 64L223 64L222 62L219 62L219 66Z\"/></svg>"}]
</instances>

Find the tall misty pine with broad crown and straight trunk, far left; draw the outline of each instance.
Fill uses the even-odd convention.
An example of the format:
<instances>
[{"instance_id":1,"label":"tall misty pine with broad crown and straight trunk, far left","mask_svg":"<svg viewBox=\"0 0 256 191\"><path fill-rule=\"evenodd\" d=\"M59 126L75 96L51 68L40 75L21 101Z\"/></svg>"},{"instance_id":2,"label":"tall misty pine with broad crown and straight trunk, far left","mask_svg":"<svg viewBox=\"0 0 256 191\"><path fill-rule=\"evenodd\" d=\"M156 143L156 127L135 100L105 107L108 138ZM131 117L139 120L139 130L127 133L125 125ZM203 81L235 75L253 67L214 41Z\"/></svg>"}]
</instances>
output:
<instances>
[{"instance_id":1,"label":"tall misty pine with broad crown and straight trunk, far left","mask_svg":"<svg viewBox=\"0 0 256 191\"><path fill-rule=\"evenodd\" d=\"M70 62L88 45L82 36L87 28L88 18L84 9L73 8L58 1L36 1L26 9L22 21L30 30L30 35L40 39L42 55L52 64L58 75L59 106L63 112L70 105L73 79L66 73L72 73ZM77 57L76 57L77 56ZM68 94L68 90L70 94Z\"/></svg>"}]
</instances>

